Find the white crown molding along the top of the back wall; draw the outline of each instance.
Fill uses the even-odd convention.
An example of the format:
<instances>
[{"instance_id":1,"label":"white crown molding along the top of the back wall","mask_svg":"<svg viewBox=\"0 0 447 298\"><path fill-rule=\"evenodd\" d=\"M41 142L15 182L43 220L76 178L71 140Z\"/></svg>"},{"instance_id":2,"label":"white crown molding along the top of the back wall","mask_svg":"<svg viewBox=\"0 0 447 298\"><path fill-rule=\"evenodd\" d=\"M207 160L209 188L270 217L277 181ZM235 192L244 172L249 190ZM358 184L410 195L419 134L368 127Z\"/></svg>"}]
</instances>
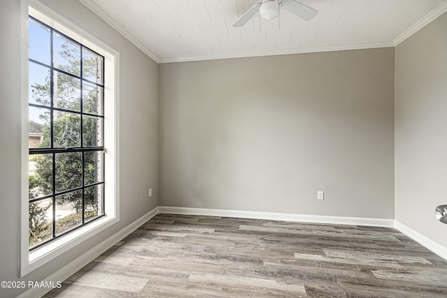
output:
<instances>
[{"instance_id":1,"label":"white crown molding along the top of the back wall","mask_svg":"<svg viewBox=\"0 0 447 298\"><path fill-rule=\"evenodd\" d=\"M159 64L172 63L172 62L216 60L216 59L277 56L277 55L288 55L288 54L305 54L305 53L316 53L316 52L365 50L379 47L394 47L394 44L392 41L377 41L372 43L348 43L344 45L325 45L321 47L297 47L294 49L287 49L287 50L235 52L231 54L213 54L213 55L179 57L179 58L161 58L159 59Z\"/></svg>"}]
</instances>

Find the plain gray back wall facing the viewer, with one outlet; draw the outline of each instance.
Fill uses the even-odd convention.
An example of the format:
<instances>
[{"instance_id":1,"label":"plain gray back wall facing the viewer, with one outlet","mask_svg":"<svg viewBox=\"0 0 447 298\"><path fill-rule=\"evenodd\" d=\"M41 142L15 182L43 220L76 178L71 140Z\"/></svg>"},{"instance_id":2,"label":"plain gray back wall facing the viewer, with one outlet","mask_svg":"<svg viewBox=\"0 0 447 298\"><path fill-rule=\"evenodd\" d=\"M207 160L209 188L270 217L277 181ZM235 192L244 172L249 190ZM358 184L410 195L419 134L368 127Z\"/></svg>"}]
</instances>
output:
<instances>
[{"instance_id":1,"label":"plain gray back wall facing the viewer, with one outlet","mask_svg":"<svg viewBox=\"0 0 447 298\"><path fill-rule=\"evenodd\" d=\"M393 96L393 48L161 64L160 205L394 218Z\"/></svg>"}]
</instances>

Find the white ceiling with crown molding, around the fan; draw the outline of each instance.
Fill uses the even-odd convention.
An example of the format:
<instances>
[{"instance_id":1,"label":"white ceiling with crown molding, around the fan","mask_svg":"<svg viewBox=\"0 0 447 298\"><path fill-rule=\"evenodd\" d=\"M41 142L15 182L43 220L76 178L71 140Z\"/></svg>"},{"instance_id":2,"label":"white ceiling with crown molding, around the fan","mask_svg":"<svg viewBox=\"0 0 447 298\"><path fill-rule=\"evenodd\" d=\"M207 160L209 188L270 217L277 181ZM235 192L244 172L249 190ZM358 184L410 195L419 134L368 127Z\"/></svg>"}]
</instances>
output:
<instances>
[{"instance_id":1,"label":"white ceiling with crown molding, around the fan","mask_svg":"<svg viewBox=\"0 0 447 298\"><path fill-rule=\"evenodd\" d=\"M286 10L232 24L261 0L80 0L159 63L393 47L447 11L447 0L298 0L310 21Z\"/></svg>"}]
</instances>

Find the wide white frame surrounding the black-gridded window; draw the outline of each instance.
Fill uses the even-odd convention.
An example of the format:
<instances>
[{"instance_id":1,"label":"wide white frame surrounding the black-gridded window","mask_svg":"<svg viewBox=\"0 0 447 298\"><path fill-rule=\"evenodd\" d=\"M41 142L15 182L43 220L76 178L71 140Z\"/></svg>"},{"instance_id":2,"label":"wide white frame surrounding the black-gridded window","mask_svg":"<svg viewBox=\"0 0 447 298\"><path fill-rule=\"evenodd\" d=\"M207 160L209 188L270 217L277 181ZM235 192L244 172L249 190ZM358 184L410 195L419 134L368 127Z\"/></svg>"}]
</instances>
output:
<instances>
[{"instance_id":1,"label":"wide white frame surrounding the black-gridded window","mask_svg":"<svg viewBox=\"0 0 447 298\"><path fill-rule=\"evenodd\" d=\"M22 15L22 51L20 79L22 89L22 136L21 136L21 216L20 216L20 277L29 274L50 260L78 246L95 234L109 228L119 221L119 52L81 29L73 22L66 20L54 10L44 6L37 0L21 0ZM105 153L105 216L83 225L68 234L50 241L43 246L29 251L29 198L28 198L28 16L31 15L64 33L73 40L82 43L104 57L104 147Z\"/></svg>"}]
</instances>

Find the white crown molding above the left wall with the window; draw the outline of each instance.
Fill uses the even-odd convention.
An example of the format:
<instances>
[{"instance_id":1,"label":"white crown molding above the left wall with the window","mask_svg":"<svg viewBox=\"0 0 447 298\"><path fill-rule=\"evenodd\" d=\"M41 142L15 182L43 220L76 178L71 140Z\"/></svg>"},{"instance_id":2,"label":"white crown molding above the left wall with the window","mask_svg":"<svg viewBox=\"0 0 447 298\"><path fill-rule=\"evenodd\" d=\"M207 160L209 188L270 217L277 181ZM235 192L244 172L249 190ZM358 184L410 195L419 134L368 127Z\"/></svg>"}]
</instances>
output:
<instances>
[{"instance_id":1,"label":"white crown molding above the left wall with the window","mask_svg":"<svg viewBox=\"0 0 447 298\"><path fill-rule=\"evenodd\" d=\"M113 29L118 31L124 38L129 40L135 47L138 47L143 53L145 53L149 58L154 60L157 64L159 63L159 57L151 51L147 50L147 47L142 45L138 38L135 38L129 31L124 29L120 24L118 24L113 17L111 17L108 13L106 13L100 6L98 6L92 0L79 0L80 3L84 4L85 7L89 8L95 15L98 15L104 22L109 24Z\"/></svg>"}]
</instances>

